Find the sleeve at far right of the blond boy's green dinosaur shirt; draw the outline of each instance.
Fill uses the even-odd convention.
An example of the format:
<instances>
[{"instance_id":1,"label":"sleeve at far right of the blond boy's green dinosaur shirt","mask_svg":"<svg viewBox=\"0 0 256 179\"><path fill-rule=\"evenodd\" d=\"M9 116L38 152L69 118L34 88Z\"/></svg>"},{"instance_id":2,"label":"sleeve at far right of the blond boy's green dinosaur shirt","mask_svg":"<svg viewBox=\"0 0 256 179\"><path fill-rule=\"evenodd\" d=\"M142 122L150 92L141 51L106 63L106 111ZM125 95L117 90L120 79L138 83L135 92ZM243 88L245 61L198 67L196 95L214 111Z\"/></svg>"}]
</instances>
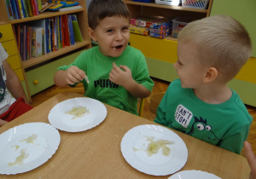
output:
<instances>
[{"instance_id":1,"label":"sleeve at far right of the blond boy's green dinosaur shirt","mask_svg":"<svg viewBox=\"0 0 256 179\"><path fill-rule=\"evenodd\" d=\"M218 142L217 146L240 154L243 147L243 141L247 140L250 125L247 124L240 129L235 130L234 134Z\"/></svg>"}]
</instances>

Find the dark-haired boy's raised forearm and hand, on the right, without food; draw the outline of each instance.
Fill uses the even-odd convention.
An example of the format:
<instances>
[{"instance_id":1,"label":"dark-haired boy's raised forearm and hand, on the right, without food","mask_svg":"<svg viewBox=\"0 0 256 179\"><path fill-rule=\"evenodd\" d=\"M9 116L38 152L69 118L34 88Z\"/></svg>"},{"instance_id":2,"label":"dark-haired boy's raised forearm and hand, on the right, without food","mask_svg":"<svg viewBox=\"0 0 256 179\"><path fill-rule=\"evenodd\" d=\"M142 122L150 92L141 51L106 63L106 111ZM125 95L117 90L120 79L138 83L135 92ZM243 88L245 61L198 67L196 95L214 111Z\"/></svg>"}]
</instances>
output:
<instances>
[{"instance_id":1,"label":"dark-haired boy's raised forearm and hand, on the right, without food","mask_svg":"<svg viewBox=\"0 0 256 179\"><path fill-rule=\"evenodd\" d=\"M145 98L151 94L151 92L147 88L145 88L143 84L138 84L132 78L131 70L127 66L119 67L115 63L113 63L113 69L109 73L109 79L114 84L119 84L123 86L125 90L128 90L131 95L134 95L137 98Z\"/></svg>"}]
</instances>

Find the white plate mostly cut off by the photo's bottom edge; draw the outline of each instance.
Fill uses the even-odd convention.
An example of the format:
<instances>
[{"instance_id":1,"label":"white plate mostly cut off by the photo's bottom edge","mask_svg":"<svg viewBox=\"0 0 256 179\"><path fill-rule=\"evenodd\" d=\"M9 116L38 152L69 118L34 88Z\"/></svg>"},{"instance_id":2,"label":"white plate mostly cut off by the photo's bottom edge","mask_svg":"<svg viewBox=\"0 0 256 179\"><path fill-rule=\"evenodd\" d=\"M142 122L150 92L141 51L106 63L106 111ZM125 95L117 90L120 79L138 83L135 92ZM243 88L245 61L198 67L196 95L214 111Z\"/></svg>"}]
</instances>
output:
<instances>
[{"instance_id":1,"label":"white plate mostly cut off by the photo's bottom edge","mask_svg":"<svg viewBox=\"0 0 256 179\"><path fill-rule=\"evenodd\" d=\"M211 173L201 170L183 170L177 172L173 176L170 176L169 179L221 179L218 176L215 176Z\"/></svg>"}]
</instances>

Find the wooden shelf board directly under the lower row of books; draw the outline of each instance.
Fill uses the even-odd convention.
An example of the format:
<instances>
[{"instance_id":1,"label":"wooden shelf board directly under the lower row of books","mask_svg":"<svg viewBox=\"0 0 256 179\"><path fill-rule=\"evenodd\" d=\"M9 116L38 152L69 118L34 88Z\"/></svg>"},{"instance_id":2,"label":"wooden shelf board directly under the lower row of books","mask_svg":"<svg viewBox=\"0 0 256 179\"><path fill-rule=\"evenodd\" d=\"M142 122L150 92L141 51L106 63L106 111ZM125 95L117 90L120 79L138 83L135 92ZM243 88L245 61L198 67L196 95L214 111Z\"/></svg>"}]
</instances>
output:
<instances>
[{"instance_id":1,"label":"wooden shelf board directly under the lower row of books","mask_svg":"<svg viewBox=\"0 0 256 179\"><path fill-rule=\"evenodd\" d=\"M37 58L32 58L27 61L22 61L22 66L26 69L28 67L38 65L39 63L42 63L44 61L49 61L52 58L55 58L59 55L65 55L67 52L73 51L75 49L79 49L89 44L90 44L89 41L76 42L74 45L66 46L65 48L59 49L54 52L50 52L49 54L42 55Z\"/></svg>"}]
</instances>

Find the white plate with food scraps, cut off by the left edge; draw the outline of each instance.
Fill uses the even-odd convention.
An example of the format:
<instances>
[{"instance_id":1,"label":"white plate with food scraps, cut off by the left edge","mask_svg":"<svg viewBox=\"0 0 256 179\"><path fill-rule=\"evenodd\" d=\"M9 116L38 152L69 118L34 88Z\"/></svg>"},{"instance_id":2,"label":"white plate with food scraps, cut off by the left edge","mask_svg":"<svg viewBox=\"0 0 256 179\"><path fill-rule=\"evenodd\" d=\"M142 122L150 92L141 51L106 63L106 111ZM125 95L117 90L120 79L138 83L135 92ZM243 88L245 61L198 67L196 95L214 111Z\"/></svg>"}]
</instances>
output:
<instances>
[{"instance_id":1,"label":"white plate with food scraps, cut off by the left edge","mask_svg":"<svg viewBox=\"0 0 256 179\"><path fill-rule=\"evenodd\" d=\"M23 173L43 165L58 149L60 141L59 131L46 123L21 124L3 132L0 174ZM17 159L19 163L15 162Z\"/></svg>"}]
</instances>

